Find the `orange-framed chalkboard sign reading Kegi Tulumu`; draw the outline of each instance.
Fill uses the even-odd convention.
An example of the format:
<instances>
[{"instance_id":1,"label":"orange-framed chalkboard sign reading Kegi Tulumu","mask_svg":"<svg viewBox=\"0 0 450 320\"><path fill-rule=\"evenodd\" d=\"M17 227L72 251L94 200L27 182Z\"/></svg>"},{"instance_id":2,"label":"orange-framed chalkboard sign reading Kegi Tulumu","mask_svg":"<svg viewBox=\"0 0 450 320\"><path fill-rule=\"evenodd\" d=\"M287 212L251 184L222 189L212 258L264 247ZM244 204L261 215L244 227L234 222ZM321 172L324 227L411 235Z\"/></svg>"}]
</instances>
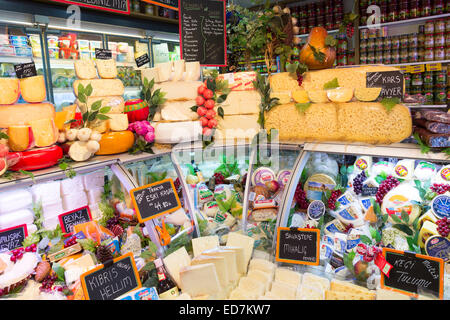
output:
<instances>
[{"instance_id":1,"label":"orange-framed chalkboard sign reading Kegi Tulumu","mask_svg":"<svg viewBox=\"0 0 450 320\"><path fill-rule=\"evenodd\" d=\"M444 260L440 258L383 248L386 261L392 265L389 277L381 273L380 285L410 296L444 295Z\"/></svg>"}]
</instances>

